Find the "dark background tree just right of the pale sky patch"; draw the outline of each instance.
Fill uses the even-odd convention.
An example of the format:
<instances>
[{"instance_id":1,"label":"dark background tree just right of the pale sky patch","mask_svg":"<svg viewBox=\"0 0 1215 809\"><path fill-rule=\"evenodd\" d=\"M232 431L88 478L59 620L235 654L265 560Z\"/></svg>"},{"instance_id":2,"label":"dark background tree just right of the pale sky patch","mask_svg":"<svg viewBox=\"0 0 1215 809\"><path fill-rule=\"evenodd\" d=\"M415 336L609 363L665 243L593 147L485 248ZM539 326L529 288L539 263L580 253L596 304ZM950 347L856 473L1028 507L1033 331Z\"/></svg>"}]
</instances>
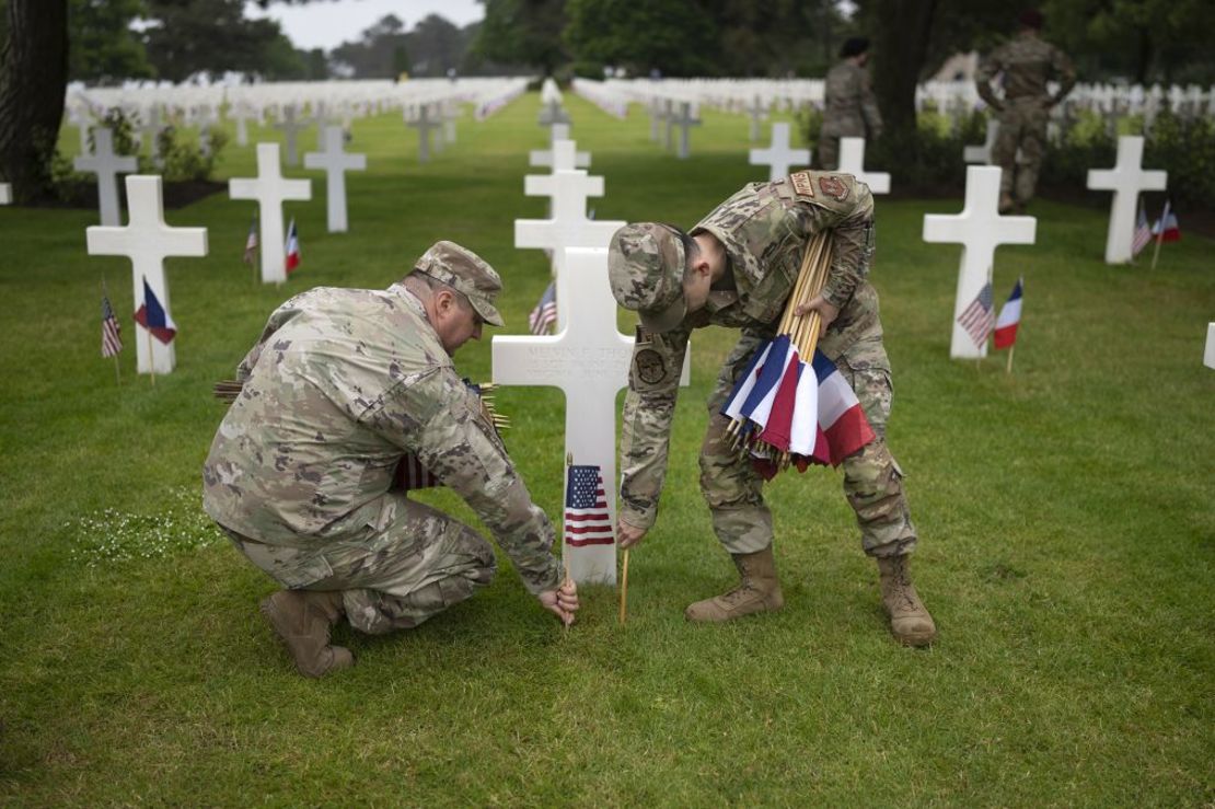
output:
<instances>
[{"instance_id":1,"label":"dark background tree just right of the pale sky patch","mask_svg":"<svg viewBox=\"0 0 1215 809\"><path fill-rule=\"evenodd\" d=\"M561 32L565 0L481 0L485 19L473 52L504 64L527 64L552 75L567 61ZM648 4L639 4L648 5Z\"/></svg>"}]
</instances>

